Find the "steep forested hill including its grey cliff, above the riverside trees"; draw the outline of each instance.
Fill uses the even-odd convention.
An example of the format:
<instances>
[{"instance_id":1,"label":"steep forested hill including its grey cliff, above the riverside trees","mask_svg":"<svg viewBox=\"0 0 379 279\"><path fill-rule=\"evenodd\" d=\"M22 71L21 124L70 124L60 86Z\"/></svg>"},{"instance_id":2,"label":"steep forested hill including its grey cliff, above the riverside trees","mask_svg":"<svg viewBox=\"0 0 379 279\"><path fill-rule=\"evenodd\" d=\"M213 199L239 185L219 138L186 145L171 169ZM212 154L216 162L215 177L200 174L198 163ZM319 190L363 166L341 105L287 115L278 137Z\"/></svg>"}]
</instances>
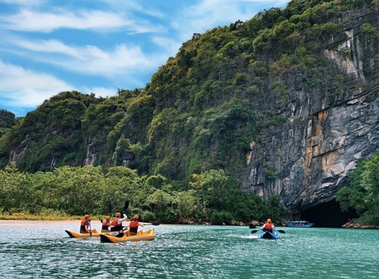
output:
<instances>
[{"instance_id":1,"label":"steep forested hill including its grey cliff, above the riverside trees","mask_svg":"<svg viewBox=\"0 0 379 279\"><path fill-rule=\"evenodd\" d=\"M185 182L224 169L294 216L336 212L347 172L379 147L378 6L294 0L194 34L143 89L43 102L3 132L0 167L127 166Z\"/></svg>"}]
</instances>

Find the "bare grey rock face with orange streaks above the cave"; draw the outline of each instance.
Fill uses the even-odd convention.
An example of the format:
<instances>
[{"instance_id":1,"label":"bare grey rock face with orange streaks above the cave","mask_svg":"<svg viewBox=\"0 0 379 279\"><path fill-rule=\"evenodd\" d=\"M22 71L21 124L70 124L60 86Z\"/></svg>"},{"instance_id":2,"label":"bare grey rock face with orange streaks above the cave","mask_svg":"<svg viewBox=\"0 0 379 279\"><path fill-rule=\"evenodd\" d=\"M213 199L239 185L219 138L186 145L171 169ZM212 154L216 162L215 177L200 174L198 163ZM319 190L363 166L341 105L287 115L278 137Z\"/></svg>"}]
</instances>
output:
<instances>
[{"instance_id":1,"label":"bare grey rock face with orange streaks above the cave","mask_svg":"<svg viewBox=\"0 0 379 279\"><path fill-rule=\"evenodd\" d=\"M309 85L309 74L289 71L287 122L251 144L243 188L280 195L293 214L334 199L358 159L379 149L379 13L348 16L319 55L325 82ZM365 39L363 23L376 27L376 36Z\"/></svg>"}]
</instances>

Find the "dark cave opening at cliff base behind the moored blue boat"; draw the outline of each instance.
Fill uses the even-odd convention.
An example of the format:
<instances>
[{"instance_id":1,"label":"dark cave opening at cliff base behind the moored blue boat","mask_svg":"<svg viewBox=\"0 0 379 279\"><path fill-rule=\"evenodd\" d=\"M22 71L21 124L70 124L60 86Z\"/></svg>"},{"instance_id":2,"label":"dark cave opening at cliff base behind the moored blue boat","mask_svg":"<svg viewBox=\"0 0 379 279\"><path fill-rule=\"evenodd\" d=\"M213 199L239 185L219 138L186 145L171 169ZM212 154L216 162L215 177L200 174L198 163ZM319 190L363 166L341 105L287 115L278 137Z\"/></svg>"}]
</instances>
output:
<instances>
[{"instance_id":1,"label":"dark cave opening at cliff base behind the moored blue boat","mask_svg":"<svg viewBox=\"0 0 379 279\"><path fill-rule=\"evenodd\" d=\"M301 219L315 223L315 227L341 227L348 219L356 217L355 210L342 212L335 199L301 212Z\"/></svg>"}]
</instances>

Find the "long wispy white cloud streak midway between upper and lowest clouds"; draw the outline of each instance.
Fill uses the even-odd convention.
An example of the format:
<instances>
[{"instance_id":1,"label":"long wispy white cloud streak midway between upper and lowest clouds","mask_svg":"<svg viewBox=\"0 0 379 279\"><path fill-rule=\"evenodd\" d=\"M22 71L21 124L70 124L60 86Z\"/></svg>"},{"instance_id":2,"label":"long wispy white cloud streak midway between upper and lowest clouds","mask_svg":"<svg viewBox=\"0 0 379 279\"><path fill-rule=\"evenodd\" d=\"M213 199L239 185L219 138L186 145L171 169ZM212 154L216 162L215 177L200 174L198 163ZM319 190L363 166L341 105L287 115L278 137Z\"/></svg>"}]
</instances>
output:
<instances>
[{"instance_id":1,"label":"long wispy white cloud streak midway between upper and lowest clouds","mask_svg":"<svg viewBox=\"0 0 379 279\"><path fill-rule=\"evenodd\" d=\"M126 76L155 69L157 64L167 60L166 53L145 54L139 45L129 46L124 43L115 45L110 50L96 45L70 46L57 40L25 41L12 38L12 44L32 51L32 54L26 56L36 62L63 67L87 76Z\"/></svg>"}]
</instances>

